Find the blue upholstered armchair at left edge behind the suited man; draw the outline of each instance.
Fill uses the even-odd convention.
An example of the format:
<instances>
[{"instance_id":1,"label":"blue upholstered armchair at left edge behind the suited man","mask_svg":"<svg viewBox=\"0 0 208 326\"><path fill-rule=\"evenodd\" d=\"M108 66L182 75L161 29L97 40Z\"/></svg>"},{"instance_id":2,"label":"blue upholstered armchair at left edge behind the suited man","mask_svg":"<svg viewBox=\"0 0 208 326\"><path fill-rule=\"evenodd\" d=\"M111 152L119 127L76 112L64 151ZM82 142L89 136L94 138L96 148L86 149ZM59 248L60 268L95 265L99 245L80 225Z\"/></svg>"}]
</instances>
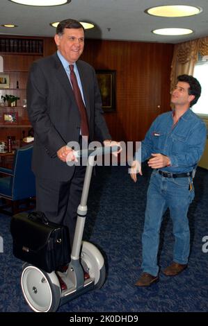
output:
<instances>
[{"instance_id":1,"label":"blue upholstered armchair at left edge behind the suited man","mask_svg":"<svg viewBox=\"0 0 208 326\"><path fill-rule=\"evenodd\" d=\"M35 175L31 171L33 145L18 148L13 162L13 169L0 167L0 197L10 203L12 212L6 210L8 205L0 205L0 212L12 215L19 212L19 204L29 203L35 197ZM29 209L29 206L26 206ZM25 209L25 210L26 210Z\"/></svg>"}]
</instances>

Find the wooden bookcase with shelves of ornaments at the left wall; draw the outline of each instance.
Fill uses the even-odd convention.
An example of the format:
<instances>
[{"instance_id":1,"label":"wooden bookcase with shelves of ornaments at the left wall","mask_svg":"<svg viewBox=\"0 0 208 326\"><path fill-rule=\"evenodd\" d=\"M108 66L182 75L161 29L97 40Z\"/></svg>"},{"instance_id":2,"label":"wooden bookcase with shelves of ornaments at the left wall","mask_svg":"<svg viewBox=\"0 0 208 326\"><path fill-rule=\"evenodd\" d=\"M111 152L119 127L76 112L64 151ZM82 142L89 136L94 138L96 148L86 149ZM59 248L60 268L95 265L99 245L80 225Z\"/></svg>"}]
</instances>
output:
<instances>
[{"instance_id":1,"label":"wooden bookcase with shelves of ornaments at the left wall","mask_svg":"<svg viewBox=\"0 0 208 326\"><path fill-rule=\"evenodd\" d=\"M31 123L27 114L26 81L33 61L42 58L44 39L35 37L7 37L0 35L0 55L3 58L3 76L8 78L8 87L0 85L1 96L15 95L19 97L17 106L8 107L1 101L0 106L0 141L8 136L22 139L28 135Z\"/></svg>"}]
</instances>

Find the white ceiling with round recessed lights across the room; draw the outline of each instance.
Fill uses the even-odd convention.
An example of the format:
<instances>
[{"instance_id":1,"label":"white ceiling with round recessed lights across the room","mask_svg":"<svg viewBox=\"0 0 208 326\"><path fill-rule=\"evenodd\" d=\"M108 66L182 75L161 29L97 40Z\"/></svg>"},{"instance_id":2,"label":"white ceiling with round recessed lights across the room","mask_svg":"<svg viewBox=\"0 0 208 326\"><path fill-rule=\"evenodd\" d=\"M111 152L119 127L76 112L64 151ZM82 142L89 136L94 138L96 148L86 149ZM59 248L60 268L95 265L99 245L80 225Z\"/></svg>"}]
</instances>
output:
<instances>
[{"instance_id":1,"label":"white ceiling with round recessed lights across the room","mask_svg":"<svg viewBox=\"0 0 208 326\"><path fill-rule=\"evenodd\" d=\"M153 17L144 12L163 4L195 5L203 11L200 15L184 18ZM49 23L67 18L93 22L95 28L86 31L87 38L178 43L208 36L208 0L72 0L63 6L41 8L0 0L0 24L18 26L0 27L0 34L51 37L56 29ZM184 36L151 33L155 28L164 27L191 28L194 33Z\"/></svg>"}]
</instances>

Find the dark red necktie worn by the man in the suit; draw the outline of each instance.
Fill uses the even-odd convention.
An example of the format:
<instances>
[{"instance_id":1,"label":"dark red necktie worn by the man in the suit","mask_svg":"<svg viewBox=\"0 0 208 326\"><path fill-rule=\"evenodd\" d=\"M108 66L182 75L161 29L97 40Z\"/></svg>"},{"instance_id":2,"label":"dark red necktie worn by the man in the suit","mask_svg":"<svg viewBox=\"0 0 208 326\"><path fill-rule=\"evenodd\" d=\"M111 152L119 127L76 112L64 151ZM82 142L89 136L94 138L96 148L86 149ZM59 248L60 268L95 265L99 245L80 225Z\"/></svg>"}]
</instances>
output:
<instances>
[{"instance_id":1,"label":"dark red necktie worn by the man in the suit","mask_svg":"<svg viewBox=\"0 0 208 326\"><path fill-rule=\"evenodd\" d=\"M70 65L70 80L72 83L72 88L74 91L74 96L76 98L77 106L79 108L79 113L81 115L81 135L89 137L89 127L88 127L88 117L86 108L83 104L83 100L81 97L81 92L79 89L79 85L77 83L77 77L74 74L74 65Z\"/></svg>"}]
</instances>

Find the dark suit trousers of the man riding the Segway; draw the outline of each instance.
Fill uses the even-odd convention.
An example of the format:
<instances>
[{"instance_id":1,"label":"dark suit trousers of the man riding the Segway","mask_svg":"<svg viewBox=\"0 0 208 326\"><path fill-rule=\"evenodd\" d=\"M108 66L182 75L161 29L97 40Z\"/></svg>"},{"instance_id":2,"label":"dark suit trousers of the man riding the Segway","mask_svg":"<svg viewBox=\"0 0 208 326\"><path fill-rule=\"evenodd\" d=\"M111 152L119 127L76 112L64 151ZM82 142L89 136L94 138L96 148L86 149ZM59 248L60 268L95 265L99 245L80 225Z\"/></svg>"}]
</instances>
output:
<instances>
[{"instance_id":1,"label":"dark suit trousers of the man riding the Segway","mask_svg":"<svg viewBox=\"0 0 208 326\"><path fill-rule=\"evenodd\" d=\"M36 177L36 209L44 212L49 221L67 226L71 247L85 172L86 166L76 166L66 182Z\"/></svg>"}]
</instances>

